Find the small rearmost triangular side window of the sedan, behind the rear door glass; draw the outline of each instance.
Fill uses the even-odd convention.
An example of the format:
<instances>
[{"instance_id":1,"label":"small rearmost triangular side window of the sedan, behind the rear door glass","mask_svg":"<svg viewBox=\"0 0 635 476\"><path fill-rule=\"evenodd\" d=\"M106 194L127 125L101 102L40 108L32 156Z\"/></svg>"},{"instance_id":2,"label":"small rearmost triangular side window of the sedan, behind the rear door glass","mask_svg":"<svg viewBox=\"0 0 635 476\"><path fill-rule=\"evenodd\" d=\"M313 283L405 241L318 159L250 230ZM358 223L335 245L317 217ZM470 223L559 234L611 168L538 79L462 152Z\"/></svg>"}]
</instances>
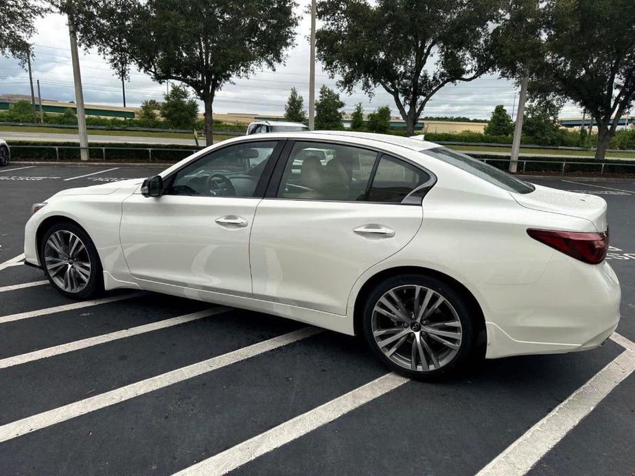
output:
<instances>
[{"instance_id":1,"label":"small rearmost triangular side window of the sedan, behind the rear door glass","mask_svg":"<svg viewBox=\"0 0 635 476\"><path fill-rule=\"evenodd\" d=\"M370 202L400 203L417 187L430 180L421 169L397 158L382 156L369 191Z\"/></svg>"}]
</instances>

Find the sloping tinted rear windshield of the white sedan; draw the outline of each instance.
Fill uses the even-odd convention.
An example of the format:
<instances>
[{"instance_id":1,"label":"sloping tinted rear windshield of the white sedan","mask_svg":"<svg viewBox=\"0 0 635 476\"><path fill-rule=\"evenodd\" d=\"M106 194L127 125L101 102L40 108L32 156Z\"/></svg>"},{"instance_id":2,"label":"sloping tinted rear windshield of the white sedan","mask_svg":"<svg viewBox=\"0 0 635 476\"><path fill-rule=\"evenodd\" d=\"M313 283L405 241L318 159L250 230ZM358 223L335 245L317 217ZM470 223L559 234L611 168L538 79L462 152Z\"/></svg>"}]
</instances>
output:
<instances>
[{"instance_id":1,"label":"sloping tinted rear windshield of the white sedan","mask_svg":"<svg viewBox=\"0 0 635 476\"><path fill-rule=\"evenodd\" d=\"M492 167L492 165L487 165L481 160L461 154L461 152L446 149L446 147L432 147L432 149L420 150L419 152L443 160L454 167L459 167L459 169L470 172L470 174L510 192L531 193L535 190L535 187L530 183L523 182L507 172Z\"/></svg>"}]
</instances>

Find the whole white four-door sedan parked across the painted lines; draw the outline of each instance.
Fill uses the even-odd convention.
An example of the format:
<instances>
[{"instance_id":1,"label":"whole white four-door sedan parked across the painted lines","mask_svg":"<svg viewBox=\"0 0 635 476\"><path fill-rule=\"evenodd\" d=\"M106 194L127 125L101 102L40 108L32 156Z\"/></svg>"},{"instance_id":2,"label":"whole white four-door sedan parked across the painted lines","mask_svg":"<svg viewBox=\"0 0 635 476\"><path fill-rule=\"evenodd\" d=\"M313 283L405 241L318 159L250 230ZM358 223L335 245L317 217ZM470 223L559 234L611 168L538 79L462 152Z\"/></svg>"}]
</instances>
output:
<instances>
[{"instance_id":1,"label":"whole white four-door sedan parked across the painted lines","mask_svg":"<svg viewBox=\"0 0 635 476\"><path fill-rule=\"evenodd\" d=\"M70 298L132 288L362 334L408 377L599 346L619 320L606 203L434 143L223 141L34 206L25 259Z\"/></svg>"}]
</instances>

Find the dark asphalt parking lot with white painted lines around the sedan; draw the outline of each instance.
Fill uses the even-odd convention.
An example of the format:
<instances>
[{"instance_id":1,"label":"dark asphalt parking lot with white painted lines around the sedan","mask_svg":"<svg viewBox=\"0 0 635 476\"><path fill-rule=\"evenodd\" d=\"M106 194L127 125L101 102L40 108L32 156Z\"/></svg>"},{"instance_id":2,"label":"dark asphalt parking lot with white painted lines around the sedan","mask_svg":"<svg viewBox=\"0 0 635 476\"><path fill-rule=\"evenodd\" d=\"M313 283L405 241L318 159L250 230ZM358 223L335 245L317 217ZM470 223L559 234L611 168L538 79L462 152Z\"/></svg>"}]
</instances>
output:
<instances>
[{"instance_id":1,"label":"dark asphalt parking lot with white painted lines around the sedan","mask_svg":"<svg viewBox=\"0 0 635 476\"><path fill-rule=\"evenodd\" d=\"M618 336L426 384L353 337L150 293L71 302L19 264L32 203L159 170L0 168L1 475L635 473L633 180L535 180L608 201Z\"/></svg>"}]
</instances>

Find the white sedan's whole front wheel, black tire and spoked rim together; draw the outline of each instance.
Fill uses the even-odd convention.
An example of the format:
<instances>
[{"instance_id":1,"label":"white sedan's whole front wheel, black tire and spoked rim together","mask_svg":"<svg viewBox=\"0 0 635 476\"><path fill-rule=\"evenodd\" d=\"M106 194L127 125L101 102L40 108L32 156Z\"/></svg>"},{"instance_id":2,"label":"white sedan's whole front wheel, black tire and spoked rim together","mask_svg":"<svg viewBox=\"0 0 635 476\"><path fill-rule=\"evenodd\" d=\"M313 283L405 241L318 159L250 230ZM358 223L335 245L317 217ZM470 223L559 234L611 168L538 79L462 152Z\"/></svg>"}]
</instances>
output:
<instances>
[{"instance_id":1,"label":"white sedan's whole front wheel, black tire and spoked rim together","mask_svg":"<svg viewBox=\"0 0 635 476\"><path fill-rule=\"evenodd\" d=\"M67 298L95 298L104 290L99 254L80 226L65 222L51 226L42 237L41 263L49 282Z\"/></svg>"}]
</instances>

